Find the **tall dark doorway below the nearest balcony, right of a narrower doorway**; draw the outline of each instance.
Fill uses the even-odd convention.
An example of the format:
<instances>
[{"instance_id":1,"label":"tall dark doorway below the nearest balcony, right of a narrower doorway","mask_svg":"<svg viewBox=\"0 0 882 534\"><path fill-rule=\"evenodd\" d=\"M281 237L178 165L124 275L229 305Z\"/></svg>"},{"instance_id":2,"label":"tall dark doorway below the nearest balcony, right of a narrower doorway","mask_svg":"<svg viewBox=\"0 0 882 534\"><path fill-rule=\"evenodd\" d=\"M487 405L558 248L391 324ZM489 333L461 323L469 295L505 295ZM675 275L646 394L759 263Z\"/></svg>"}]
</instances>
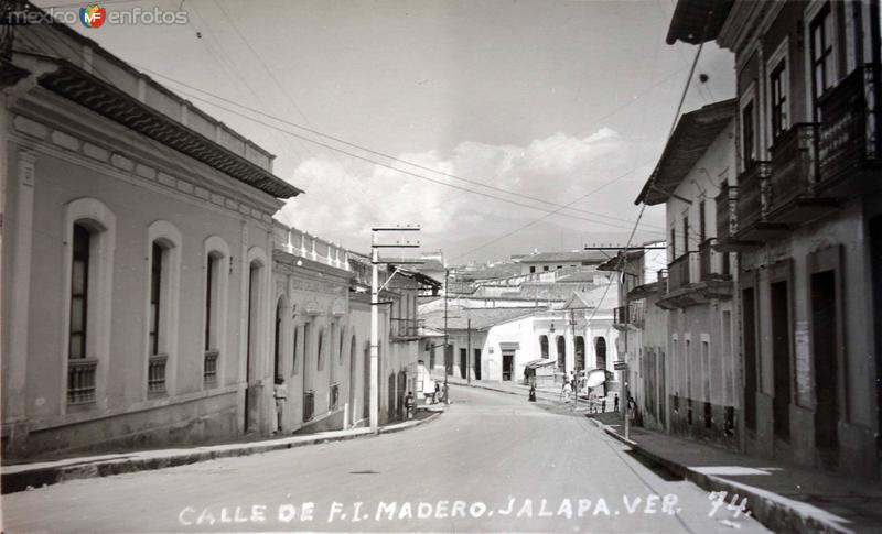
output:
<instances>
[{"instance_id":1,"label":"tall dark doorway below the nearest balcony, right of a narrower doorway","mask_svg":"<svg viewBox=\"0 0 882 534\"><path fill-rule=\"evenodd\" d=\"M815 446L821 456L836 457L839 421L838 317L836 271L811 274L811 346L815 367ZM833 454L829 454L832 451Z\"/></svg>"}]
</instances>

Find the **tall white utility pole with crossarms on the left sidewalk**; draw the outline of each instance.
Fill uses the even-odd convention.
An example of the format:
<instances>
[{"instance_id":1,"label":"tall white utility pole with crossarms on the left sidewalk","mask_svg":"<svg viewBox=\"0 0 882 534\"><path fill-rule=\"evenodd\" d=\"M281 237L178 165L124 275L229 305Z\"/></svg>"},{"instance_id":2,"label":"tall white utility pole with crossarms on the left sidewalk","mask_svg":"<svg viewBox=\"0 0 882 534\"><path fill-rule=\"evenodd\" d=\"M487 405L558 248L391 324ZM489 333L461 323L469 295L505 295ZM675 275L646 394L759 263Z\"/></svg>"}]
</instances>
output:
<instances>
[{"instance_id":1,"label":"tall white utility pole with crossarms on the left sidewalk","mask_svg":"<svg viewBox=\"0 0 882 534\"><path fill-rule=\"evenodd\" d=\"M419 231L419 226L396 226L388 228L373 228L370 232L370 432L377 434L379 432L379 292L391 281L395 273L392 273L383 286L379 285L379 264L380 263L421 263L419 261L381 261L379 258L379 249L415 249L419 248L419 241L411 243L407 241L401 243L380 243L378 235L380 232L404 232L404 231Z\"/></svg>"}]
</instances>

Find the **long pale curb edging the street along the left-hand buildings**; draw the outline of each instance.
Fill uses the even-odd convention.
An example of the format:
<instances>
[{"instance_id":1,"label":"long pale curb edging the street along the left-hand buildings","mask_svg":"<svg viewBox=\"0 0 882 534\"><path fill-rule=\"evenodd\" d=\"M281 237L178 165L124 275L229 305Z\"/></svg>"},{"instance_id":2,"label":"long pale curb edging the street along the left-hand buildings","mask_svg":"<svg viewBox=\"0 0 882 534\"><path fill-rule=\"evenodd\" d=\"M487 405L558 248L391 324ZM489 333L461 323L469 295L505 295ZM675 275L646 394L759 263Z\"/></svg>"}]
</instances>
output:
<instances>
[{"instance_id":1,"label":"long pale curb edging the street along the left-hand buildings","mask_svg":"<svg viewBox=\"0 0 882 534\"><path fill-rule=\"evenodd\" d=\"M423 425L431 421L437 419L443 412L434 413L424 419L415 422L396 423L380 427L377 434L370 432L369 428L356 428L354 433L341 436L319 436L316 435L310 439L301 439L298 442L275 440L265 443L262 445L247 445L241 447L217 446L217 449L209 450L194 450L191 453L181 453L176 455L169 455L166 457L154 458L115 458L101 460L83 465L65 465L57 467L42 467L31 470L21 470L12 473L2 473L0 480L2 481L0 493L14 493L18 491L26 491L28 489L41 488L44 486L56 484L67 480L86 479L109 477L112 475L122 475L138 471L152 471L157 469L164 469L168 467L185 466L189 464L197 464L200 461L214 460L218 458L234 458L238 456L251 456L257 454L270 453L273 450L284 450L298 447L305 447L309 445L319 445L324 443L345 442L356 439L359 437L376 437L381 434L396 434L417 426ZM338 432L338 431L337 431ZM225 447L225 448L220 448ZM6 466L12 467L12 466Z\"/></svg>"}]
</instances>

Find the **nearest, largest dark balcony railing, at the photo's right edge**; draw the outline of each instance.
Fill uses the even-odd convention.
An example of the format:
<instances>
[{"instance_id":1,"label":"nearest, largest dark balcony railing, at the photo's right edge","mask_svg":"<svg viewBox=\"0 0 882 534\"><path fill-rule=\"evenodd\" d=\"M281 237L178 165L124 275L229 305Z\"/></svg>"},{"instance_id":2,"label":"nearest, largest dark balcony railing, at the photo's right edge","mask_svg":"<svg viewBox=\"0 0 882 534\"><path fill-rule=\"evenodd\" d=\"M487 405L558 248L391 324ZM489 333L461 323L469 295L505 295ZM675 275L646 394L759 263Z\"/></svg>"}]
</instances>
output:
<instances>
[{"instance_id":1,"label":"nearest, largest dark balcony railing, at the photo's right edge","mask_svg":"<svg viewBox=\"0 0 882 534\"><path fill-rule=\"evenodd\" d=\"M882 159L879 65L854 69L820 98L818 135L820 181L835 182L856 164Z\"/></svg>"}]
</instances>

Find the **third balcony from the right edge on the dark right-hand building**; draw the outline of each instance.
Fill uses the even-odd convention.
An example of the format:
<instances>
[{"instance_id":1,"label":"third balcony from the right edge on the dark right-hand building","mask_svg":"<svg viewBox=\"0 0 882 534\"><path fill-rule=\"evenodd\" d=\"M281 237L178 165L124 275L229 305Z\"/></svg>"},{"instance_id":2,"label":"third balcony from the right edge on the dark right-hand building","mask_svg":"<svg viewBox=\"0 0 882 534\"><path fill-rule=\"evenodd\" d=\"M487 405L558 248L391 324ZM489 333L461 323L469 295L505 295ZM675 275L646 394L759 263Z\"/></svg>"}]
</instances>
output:
<instances>
[{"instance_id":1,"label":"third balcony from the right edge on the dark right-hand building","mask_svg":"<svg viewBox=\"0 0 882 534\"><path fill-rule=\"evenodd\" d=\"M770 222L770 162L752 162L738 177L738 233L739 241L761 244L765 239L788 231L787 225Z\"/></svg>"}]
</instances>

